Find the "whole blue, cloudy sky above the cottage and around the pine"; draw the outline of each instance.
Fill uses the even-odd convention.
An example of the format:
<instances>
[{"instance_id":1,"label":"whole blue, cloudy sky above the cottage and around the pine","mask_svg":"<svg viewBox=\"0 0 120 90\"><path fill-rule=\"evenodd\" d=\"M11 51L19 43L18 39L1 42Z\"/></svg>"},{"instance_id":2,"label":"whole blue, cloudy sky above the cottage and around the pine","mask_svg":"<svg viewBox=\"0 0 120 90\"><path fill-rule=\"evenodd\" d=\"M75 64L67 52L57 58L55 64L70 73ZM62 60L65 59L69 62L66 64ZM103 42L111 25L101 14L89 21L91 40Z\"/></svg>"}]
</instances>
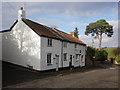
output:
<instances>
[{"instance_id":1,"label":"whole blue, cloudy sky above the cottage and around the pine","mask_svg":"<svg viewBox=\"0 0 120 90\"><path fill-rule=\"evenodd\" d=\"M26 18L40 24L57 27L70 33L75 27L79 39L88 46L98 47L98 40L84 35L86 26L91 22L105 19L113 25L111 38L103 35L102 47L118 46L118 3L117 2L2 2L2 30L9 29L17 19L17 12L24 7Z\"/></svg>"}]
</instances>

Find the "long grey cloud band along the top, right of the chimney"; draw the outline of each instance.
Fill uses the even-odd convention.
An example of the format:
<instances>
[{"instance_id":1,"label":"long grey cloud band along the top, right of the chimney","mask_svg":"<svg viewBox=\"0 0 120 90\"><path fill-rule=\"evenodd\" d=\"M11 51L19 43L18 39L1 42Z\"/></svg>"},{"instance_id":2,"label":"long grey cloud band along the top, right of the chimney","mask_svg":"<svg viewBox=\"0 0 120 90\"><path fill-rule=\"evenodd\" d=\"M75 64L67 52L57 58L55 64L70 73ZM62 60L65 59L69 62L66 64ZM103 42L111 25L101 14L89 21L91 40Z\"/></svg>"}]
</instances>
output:
<instances>
[{"instance_id":1,"label":"long grey cloud band along the top, right of the chimney","mask_svg":"<svg viewBox=\"0 0 120 90\"><path fill-rule=\"evenodd\" d=\"M104 13L117 9L117 3L103 3L103 2L39 2L26 3L28 13L31 11L33 14L49 14L53 16L61 16L65 18L77 17L97 17L103 16Z\"/></svg>"}]
</instances>

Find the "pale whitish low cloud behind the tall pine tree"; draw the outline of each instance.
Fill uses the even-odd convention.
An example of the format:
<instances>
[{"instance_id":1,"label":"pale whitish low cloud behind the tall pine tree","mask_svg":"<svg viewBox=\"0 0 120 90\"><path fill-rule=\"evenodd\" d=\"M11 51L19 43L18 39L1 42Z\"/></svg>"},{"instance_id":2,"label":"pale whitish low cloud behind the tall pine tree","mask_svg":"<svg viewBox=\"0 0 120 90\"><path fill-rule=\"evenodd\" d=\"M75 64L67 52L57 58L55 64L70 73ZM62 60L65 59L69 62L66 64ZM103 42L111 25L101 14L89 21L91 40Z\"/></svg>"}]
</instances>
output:
<instances>
[{"instance_id":1,"label":"pale whitish low cloud behind the tall pine tree","mask_svg":"<svg viewBox=\"0 0 120 90\"><path fill-rule=\"evenodd\" d=\"M107 37L103 34L102 47L118 47L118 21L112 20L107 21L110 25L113 25L113 36ZM79 35L80 40L84 41L88 46L92 46L92 40L94 40L94 47L98 47L98 39L93 39L93 37L86 35Z\"/></svg>"}]
</instances>

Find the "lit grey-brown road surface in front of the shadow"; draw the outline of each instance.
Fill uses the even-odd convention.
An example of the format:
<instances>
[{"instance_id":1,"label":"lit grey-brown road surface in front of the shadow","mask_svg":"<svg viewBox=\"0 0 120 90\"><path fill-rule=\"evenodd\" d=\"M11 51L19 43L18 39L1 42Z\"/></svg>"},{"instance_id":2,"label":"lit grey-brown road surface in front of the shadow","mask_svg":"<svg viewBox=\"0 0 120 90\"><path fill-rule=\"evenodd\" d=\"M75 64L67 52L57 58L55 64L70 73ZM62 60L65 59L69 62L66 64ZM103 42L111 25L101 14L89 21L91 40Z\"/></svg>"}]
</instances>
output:
<instances>
[{"instance_id":1,"label":"lit grey-brown road surface in front of the shadow","mask_svg":"<svg viewBox=\"0 0 120 90\"><path fill-rule=\"evenodd\" d=\"M118 66L87 72L58 74L4 88L118 88Z\"/></svg>"}]
</instances>

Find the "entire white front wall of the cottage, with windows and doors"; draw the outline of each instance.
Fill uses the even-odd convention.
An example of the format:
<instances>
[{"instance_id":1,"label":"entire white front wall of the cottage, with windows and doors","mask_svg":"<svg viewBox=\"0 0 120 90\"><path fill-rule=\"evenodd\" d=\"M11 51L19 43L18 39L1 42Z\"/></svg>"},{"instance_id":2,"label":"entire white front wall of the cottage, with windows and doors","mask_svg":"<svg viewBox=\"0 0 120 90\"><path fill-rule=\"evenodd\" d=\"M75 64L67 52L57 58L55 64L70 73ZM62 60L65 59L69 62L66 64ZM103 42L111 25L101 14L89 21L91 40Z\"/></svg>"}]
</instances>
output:
<instances>
[{"instance_id":1,"label":"entire white front wall of the cottage, with windows and doors","mask_svg":"<svg viewBox=\"0 0 120 90\"><path fill-rule=\"evenodd\" d=\"M64 41L63 41L64 43ZM67 47L63 47L62 41L52 39L52 47L48 47L48 38L41 37L41 70L55 69L56 68L56 59L55 54L59 55L59 68L61 67L69 67L70 55L72 55L72 65L74 67L82 67L85 66L85 46L77 44L77 48L75 48L75 43L67 42ZM62 50L63 47L63 50ZM81 50L81 53L80 53ZM64 61L63 54L61 52L67 53L67 60ZM47 54L52 53L52 64L47 65ZM81 60L81 56L79 60L76 59L76 54L83 55L83 60ZM62 56L61 56L62 55ZM63 64L62 64L63 63Z\"/></svg>"}]
</instances>

